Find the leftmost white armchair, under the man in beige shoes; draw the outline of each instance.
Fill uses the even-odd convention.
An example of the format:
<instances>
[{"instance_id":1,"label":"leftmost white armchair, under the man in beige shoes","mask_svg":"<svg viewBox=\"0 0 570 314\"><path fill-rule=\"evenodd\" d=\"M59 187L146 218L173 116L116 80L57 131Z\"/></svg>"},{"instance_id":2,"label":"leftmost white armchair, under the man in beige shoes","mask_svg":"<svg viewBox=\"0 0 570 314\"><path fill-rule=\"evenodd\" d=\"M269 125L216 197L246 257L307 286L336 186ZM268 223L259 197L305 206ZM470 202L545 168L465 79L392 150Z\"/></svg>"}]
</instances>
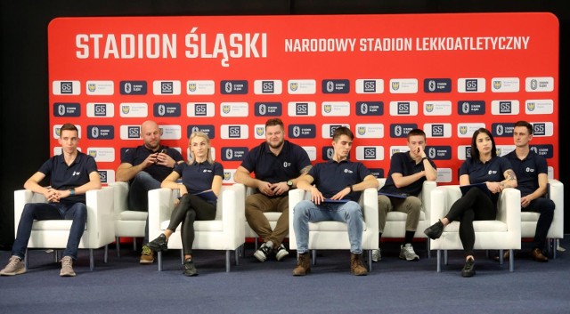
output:
<instances>
[{"instance_id":1,"label":"leftmost white armchair, under the man in beige shoes","mask_svg":"<svg viewBox=\"0 0 570 314\"><path fill-rule=\"evenodd\" d=\"M18 232L18 224L24 205L28 203L46 203L46 200L42 194L34 193L28 189L14 191L15 233ZM87 205L87 222L79 248L89 249L89 266L90 270L93 271L94 249L104 246L104 262L107 262L108 245L115 240L115 229L112 228L113 189L105 187L87 191L85 204ZM63 249L67 246L71 222L70 220L34 221L28 248L55 249L55 260L57 261L57 249ZM28 253L26 253L25 260L26 268L28 268Z\"/></svg>"}]
</instances>

